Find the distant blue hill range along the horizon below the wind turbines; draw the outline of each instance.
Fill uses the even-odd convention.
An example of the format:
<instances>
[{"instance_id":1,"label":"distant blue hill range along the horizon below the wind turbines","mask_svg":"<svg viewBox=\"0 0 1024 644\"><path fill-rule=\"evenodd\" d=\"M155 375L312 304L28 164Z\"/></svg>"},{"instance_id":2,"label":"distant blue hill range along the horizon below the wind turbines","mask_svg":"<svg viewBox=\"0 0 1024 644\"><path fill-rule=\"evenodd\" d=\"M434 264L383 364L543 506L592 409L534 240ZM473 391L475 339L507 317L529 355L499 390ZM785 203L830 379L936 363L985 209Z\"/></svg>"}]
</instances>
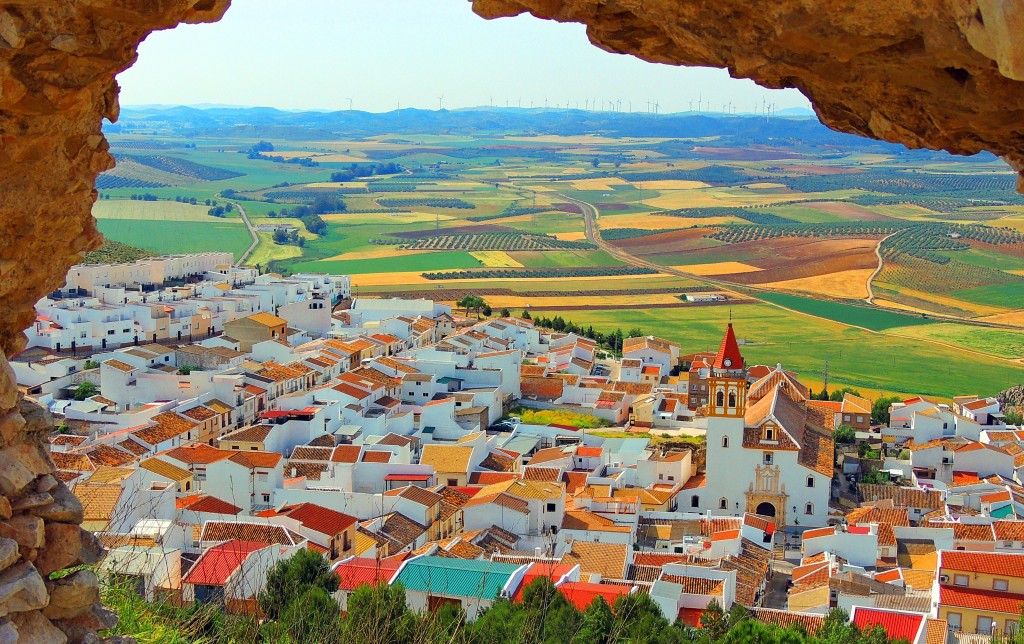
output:
<instances>
[{"instance_id":1,"label":"distant blue hill range along the horizon below the wind turbines","mask_svg":"<svg viewBox=\"0 0 1024 644\"><path fill-rule=\"evenodd\" d=\"M923 157L945 153L907 153L900 146L836 132L801 108L779 110L770 118L714 113L591 112L551 108L463 108L385 113L354 111L288 112L275 108L215 105L139 105L121 110L109 133L311 140L383 134L563 135L600 134L618 138L705 138L715 145L772 145L872 149ZM838 152L839 152L838 149ZM991 159L989 156L979 159Z\"/></svg>"}]
</instances>

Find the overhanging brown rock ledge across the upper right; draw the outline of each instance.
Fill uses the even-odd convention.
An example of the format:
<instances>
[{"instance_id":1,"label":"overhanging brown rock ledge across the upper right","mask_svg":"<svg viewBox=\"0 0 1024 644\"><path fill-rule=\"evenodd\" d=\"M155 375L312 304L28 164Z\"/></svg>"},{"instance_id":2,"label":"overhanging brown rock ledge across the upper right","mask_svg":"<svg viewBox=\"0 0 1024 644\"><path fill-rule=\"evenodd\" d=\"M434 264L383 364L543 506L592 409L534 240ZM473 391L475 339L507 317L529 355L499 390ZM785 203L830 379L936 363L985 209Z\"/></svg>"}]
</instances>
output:
<instances>
[{"instance_id":1,"label":"overhanging brown rock ledge across the upper right","mask_svg":"<svg viewBox=\"0 0 1024 644\"><path fill-rule=\"evenodd\" d=\"M1024 191L1020 0L471 0L583 23L608 51L796 87L825 125L909 147L987 149Z\"/></svg>"}]
</instances>

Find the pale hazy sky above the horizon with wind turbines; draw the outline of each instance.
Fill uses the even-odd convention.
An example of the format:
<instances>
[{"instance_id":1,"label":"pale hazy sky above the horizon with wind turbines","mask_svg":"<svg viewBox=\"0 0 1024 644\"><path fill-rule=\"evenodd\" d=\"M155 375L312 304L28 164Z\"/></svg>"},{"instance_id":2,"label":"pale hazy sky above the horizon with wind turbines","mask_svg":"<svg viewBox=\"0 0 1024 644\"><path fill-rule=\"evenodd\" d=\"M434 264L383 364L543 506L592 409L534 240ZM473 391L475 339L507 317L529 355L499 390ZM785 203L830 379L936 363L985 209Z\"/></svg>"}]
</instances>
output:
<instances>
[{"instance_id":1,"label":"pale hazy sky above the horizon with wind turbines","mask_svg":"<svg viewBox=\"0 0 1024 644\"><path fill-rule=\"evenodd\" d=\"M123 73L121 102L227 103L286 110L551 106L656 100L681 112L808 106L722 70L675 68L602 51L581 25L484 20L465 0L234 0L223 20L150 36ZM573 105L574 106L574 105Z\"/></svg>"}]
</instances>

